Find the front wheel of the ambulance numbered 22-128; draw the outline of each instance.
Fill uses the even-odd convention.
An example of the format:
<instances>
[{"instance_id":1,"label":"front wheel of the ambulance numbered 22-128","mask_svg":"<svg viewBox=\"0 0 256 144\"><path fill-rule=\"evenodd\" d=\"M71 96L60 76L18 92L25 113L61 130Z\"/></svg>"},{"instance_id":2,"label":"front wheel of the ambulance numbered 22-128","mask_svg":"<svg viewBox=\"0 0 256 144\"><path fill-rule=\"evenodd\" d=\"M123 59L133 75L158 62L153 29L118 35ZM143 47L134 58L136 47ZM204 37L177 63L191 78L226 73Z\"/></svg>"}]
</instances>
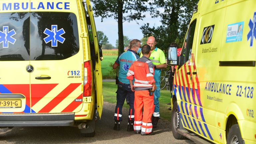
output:
<instances>
[{"instance_id":1,"label":"front wheel of the ambulance numbered 22-128","mask_svg":"<svg viewBox=\"0 0 256 144\"><path fill-rule=\"evenodd\" d=\"M178 104L177 104L177 101L175 101L173 103L172 118L171 118L172 135L176 139L186 139L185 136L183 136L177 132L177 129L181 128L181 126L179 125L179 121L180 121L180 115L179 115L179 110L178 110Z\"/></svg>"}]
</instances>

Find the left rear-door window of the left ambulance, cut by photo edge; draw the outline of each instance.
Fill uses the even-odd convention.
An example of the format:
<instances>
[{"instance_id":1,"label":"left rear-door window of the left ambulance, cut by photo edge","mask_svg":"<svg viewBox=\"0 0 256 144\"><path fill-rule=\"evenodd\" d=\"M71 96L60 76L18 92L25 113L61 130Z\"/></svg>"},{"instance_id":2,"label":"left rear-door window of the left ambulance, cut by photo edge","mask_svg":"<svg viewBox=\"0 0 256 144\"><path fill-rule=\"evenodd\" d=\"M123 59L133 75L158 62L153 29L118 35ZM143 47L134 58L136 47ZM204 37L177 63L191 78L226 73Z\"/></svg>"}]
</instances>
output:
<instances>
[{"instance_id":1,"label":"left rear-door window of the left ambulance, cut by photo edge","mask_svg":"<svg viewBox=\"0 0 256 144\"><path fill-rule=\"evenodd\" d=\"M0 18L0 61L28 61L29 13L1 13Z\"/></svg>"}]
</instances>

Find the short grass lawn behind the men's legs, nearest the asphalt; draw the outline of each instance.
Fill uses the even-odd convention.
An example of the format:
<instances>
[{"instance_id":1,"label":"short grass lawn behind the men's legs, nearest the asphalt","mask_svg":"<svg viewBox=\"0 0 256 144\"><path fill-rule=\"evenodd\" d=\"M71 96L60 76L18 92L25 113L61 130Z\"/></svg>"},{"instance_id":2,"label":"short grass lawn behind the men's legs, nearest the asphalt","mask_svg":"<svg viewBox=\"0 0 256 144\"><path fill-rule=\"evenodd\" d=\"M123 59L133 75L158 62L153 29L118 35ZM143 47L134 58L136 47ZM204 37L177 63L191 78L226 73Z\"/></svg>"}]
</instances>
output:
<instances>
[{"instance_id":1,"label":"short grass lawn behind the men's legs, nearest the asphalt","mask_svg":"<svg viewBox=\"0 0 256 144\"><path fill-rule=\"evenodd\" d=\"M110 103L116 103L116 90L117 85L115 82L103 82L103 97L104 101L110 102ZM160 90L160 98L159 98L159 104L160 104L160 117L162 119L171 120L171 111L168 110L168 107L170 105L166 105L166 103L169 103L171 101L171 93L167 90ZM129 105L126 103L124 104L125 108L129 109Z\"/></svg>"}]
</instances>

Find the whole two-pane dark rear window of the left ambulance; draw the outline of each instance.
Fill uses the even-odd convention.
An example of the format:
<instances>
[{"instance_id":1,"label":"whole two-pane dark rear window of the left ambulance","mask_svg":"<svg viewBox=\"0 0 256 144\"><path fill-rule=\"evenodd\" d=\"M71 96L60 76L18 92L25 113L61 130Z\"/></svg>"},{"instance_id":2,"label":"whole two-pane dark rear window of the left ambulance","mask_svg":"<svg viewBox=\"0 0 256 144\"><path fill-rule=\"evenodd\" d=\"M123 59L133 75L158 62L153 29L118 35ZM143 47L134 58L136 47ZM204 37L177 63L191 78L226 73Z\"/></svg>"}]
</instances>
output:
<instances>
[{"instance_id":1,"label":"whole two-pane dark rear window of the left ambulance","mask_svg":"<svg viewBox=\"0 0 256 144\"><path fill-rule=\"evenodd\" d=\"M0 13L0 61L62 60L78 51L73 13Z\"/></svg>"}]
</instances>

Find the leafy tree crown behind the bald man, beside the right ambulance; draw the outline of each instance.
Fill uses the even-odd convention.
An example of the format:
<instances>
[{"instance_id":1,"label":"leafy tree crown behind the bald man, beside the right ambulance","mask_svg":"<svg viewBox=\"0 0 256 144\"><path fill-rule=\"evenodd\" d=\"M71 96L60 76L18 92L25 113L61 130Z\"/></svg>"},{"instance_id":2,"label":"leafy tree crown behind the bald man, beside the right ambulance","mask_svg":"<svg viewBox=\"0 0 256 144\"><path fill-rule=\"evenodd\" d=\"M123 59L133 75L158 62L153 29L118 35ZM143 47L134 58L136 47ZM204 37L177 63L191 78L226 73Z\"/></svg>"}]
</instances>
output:
<instances>
[{"instance_id":1,"label":"leafy tree crown behind the bald man, beside the right ambulance","mask_svg":"<svg viewBox=\"0 0 256 144\"><path fill-rule=\"evenodd\" d=\"M162 25L150 28L149 23L145 24L141 27L143 35L154 36L157 47L162 50L172 42L177 42L181 46L197 2L198 0L152 0L151 16L161 17Z\"/></svg>"}]
</instances>

